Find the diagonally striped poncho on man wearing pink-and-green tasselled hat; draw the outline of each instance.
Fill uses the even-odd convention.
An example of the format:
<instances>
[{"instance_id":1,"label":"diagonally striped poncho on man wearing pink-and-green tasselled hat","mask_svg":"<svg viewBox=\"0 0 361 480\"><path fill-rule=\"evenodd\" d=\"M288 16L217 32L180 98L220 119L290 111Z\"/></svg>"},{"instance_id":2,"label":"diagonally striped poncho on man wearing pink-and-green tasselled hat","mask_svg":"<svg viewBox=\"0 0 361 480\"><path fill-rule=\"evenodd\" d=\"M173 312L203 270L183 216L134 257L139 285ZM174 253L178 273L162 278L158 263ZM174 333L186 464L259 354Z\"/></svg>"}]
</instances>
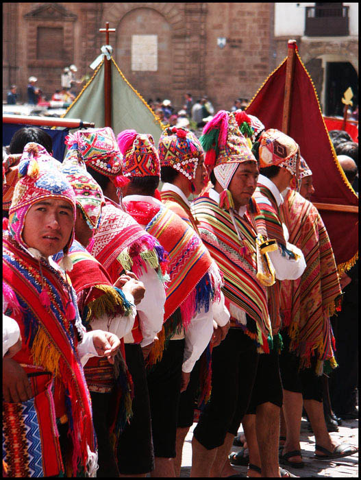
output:
<instances>
[{"instance_id":1,"label":"diagonally striped poncho on man wearing pink-and-green tasselled hat","mask_svg":"<svg viewBox=\"0 0 361 480\"><path fill-rule=\"evenodd\" d=\"M253 201L251 205L256 208ZM199 221L198 228L203 242L223 274L222 291L229 304L231 317L256 341L258 351L269 352L271 322L266 289L257 279L258 234L253 213L248 209L247 219L234 214L240 235L245 239L244 245L240 245L229 213L220 208L219 204L210 198L208 192L192 203L192 214ZM245 315L237 317L236 311L245 311L252 320L246 323Z\"/></svg>"}]
</instances>

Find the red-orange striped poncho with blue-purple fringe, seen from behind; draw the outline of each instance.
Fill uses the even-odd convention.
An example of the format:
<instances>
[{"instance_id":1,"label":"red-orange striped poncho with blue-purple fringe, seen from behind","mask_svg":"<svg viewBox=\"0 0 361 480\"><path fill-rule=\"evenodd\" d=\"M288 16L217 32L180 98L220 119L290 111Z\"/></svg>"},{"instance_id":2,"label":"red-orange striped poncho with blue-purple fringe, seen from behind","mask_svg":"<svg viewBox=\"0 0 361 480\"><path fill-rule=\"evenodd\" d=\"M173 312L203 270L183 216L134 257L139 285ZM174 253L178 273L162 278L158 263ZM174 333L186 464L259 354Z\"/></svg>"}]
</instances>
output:
<instances>
[{"instance_id":1,"label":"red-orange striped poncho with blue-purple fringe, seen from behind","mask_svg":"<svg viewBox=\"0 0 361 480\"><path fill-rule=\"evenodd\" d=\"M166 206L145 201L124 200L127 212L158 239L169 254L169 277L166 284L164 324L160 339L149 356L149 363L162 358L167 341L187 330L190 320L200 309L209 310L212 300L219 298L221 276L212 265L208 250L194 230Z\"/></svg>"}]
</instances>

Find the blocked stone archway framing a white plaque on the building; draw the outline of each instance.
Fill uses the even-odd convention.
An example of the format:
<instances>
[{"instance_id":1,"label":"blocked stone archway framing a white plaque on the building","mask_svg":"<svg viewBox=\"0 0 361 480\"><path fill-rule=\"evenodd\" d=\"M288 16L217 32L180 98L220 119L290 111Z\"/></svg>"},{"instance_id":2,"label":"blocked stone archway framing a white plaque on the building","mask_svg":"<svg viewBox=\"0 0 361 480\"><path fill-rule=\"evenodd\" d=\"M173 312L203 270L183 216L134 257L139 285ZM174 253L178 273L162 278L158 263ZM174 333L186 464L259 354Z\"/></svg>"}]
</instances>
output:
<instances>
[{"instance_id":1,"label":"blocked stone archway framing a white plaque on the building","mask_svg":"<svg viewBox=\"0 0 361 480\"><path fill-rule=\"evenodd\" d=\"M114 57L127 80L147 101L171 97L171 25L152 8L127 12L116 27Z\"/></svg>"}]
</instances>

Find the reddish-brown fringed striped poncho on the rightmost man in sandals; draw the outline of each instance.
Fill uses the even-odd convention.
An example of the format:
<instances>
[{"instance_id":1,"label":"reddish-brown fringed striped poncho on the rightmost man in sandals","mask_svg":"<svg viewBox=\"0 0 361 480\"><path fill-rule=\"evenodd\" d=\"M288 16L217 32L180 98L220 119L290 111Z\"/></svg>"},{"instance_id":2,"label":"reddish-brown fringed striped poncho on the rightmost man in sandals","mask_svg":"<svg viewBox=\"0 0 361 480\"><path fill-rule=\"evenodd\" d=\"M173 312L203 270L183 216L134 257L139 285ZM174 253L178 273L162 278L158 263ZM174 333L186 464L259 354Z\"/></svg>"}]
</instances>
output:
<instances>
[{"instance_id":1,"label":"reddish-brown fringed striped poncho on the rightmost man in sandals","mask_svg":"<svg viewBox=\"0 0 361 480\"><path fill-rule=\"evenodd\" d=\"M281 213L290 242L302 250L306 260L300 278L282 281L282 326L290 336L290 350L300 357L300 368L310 367L314 355L316 373L322 374L324 361L336 366L329 316L341 290L334 253L319 212L299 193L288 191Z\"/></svg>"}]
</instances>

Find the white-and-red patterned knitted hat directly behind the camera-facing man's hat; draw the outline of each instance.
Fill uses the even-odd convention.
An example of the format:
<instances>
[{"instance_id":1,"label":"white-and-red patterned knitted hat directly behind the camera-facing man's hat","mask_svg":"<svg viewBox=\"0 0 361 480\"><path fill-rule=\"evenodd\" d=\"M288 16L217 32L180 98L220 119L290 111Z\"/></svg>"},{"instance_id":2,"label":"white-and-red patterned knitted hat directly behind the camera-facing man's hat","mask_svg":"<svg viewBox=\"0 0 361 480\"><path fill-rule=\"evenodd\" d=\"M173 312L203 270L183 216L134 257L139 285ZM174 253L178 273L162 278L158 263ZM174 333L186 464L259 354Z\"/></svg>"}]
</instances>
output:
<instances>
[{"instance_id":1,"label":"white-and-red patterned knitted hat directly behind the camera-facing man's hat","mask_svg":"<svg viewBox=\"0 0 361 480\"><path fill-rule=\"evenodd\" d=\"M86 171L86 166L79 158L77 150L71 149L66 154L62 163L62 173L73 187L77 206L82 211L88 227L91 230L98 228L101 220L101 208L105 205L103 191Z\"/></svg>"}]
</instances>

